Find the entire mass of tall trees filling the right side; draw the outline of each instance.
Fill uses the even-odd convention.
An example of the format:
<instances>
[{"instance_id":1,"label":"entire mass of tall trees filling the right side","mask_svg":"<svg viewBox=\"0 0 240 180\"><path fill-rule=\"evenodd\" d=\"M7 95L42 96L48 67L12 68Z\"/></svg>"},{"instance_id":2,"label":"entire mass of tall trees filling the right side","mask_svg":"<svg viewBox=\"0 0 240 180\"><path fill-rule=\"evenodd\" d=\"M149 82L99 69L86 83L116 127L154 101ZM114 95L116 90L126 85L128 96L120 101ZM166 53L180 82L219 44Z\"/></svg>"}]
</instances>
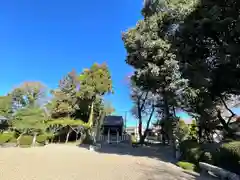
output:
<instances>
[{"instance_id":1,"label":"entire mass of tall trees filling the right side","mask_svg":"<svg viewBox=\"0 0 240 180\"><path fill-rule=\"evenodd\" d=\"M170 127L173 142L176 110L196 119L191 138L213 141L219 125L234 137L230 122L240 93L239 4L145 0L144 18L122 35L126 63L134 68L131 79L157 97L156 112L167 121L163 128Z\"/></svg>"}]
</instances>

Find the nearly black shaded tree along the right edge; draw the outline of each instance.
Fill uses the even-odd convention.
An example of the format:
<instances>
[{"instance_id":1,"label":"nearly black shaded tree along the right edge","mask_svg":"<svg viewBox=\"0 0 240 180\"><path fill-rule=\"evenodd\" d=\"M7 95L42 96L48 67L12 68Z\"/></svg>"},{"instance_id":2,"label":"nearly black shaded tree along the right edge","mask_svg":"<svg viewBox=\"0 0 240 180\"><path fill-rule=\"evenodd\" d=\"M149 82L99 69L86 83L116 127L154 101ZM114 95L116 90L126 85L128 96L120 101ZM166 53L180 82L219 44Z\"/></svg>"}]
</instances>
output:
<instances>
[{"instance_id":1,"label":"nearly black shaded tree along the right edge","mask_svg":"<svg viewBox=\"0 0 240 180\"><path fill-rule=\"evenodd\" d=\"M172 41L182 75L198 94L185 101L188 112L198 115L201 128L209 131L218 121L232 134L229 122L235 114L227 101L240 93L239 8L236 0L201 0L179 24ZM222 117L223 110L230 116ZM206 124L212 127L203 127Z\"/></svg>"}]
</instances>

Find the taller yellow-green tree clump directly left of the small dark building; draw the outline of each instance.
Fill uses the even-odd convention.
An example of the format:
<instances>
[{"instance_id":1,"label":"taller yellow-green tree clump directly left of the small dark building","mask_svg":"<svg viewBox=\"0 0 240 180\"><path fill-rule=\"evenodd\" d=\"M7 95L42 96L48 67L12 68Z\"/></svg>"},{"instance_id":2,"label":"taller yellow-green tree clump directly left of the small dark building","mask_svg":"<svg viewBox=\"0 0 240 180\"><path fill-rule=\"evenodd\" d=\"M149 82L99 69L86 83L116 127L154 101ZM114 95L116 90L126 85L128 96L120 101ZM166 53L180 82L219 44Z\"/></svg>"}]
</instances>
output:
<instances>
[{"instance_id":1,"label":"taller yellow-green tree clump directly left of the small dark building","mask_svg":"<svg viewBox=\"0 0 240 180\"><path fill-rule=\"evenodd\" d=\"M81 127L87 133L101 119L104 111L103 96L111 91L112 81L106 64L94 64L79 76L75 71L68 73L60 81L58 89L52 91L53 99L48 106L51 117L57 122L51 125L52 129L59 130L62 127L62 130L66 130L66 142L69 134L72 131L79 134ZM74 120L81 121L78 127L72 125ZM82 122L88 125L82 126Z\"/></svg>"}]
</instances>

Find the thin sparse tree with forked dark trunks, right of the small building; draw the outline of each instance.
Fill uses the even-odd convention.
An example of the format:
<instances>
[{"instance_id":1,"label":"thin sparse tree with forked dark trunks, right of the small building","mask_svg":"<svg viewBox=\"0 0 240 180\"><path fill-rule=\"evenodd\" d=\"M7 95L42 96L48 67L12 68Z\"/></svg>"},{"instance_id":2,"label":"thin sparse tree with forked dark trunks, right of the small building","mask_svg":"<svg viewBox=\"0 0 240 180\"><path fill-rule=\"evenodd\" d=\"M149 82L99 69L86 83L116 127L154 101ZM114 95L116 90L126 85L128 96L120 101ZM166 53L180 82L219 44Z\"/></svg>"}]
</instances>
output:
<instances>
[{"instance_id":1,"label":"thin sparse tree with forked dark trunks, right of the small building","mask_svg":"<svg viewBox=\"0 0 240 180\"><path fill-rule=\"evenodd\" d=\"M156 99L151 92L145 92L135 86L134 82L132 82L131 99L134 103L132 114L138 119L138 134L140 137L139 143L143 144L145 138L147 137L149 125L155 112ZM145 131L142 132L144 119L147 119L146 128Z\"/></svg>"}]
</instances>

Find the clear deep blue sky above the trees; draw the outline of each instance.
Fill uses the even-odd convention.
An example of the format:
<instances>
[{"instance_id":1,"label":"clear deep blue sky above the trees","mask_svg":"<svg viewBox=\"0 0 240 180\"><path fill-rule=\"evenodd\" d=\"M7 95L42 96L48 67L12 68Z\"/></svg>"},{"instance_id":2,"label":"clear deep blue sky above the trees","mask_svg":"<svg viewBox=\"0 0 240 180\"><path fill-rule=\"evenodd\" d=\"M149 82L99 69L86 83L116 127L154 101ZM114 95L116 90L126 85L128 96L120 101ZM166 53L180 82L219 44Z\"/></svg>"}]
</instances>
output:
<instances>
[{"instance_id":1,"label":"clear deep blue sky above the trees","mask_svg":"<svg viewBox=\"0 0 240 180\"><path fill-rule=\"evenodd\" d=\"M73 68L107 62L116 113L131 108L121 32L141 18L143 0L8 0L0 6L0 94L23 81L56 88ZM183 114L183 117L186 115Z\"/></svg>"}]
</instances>

